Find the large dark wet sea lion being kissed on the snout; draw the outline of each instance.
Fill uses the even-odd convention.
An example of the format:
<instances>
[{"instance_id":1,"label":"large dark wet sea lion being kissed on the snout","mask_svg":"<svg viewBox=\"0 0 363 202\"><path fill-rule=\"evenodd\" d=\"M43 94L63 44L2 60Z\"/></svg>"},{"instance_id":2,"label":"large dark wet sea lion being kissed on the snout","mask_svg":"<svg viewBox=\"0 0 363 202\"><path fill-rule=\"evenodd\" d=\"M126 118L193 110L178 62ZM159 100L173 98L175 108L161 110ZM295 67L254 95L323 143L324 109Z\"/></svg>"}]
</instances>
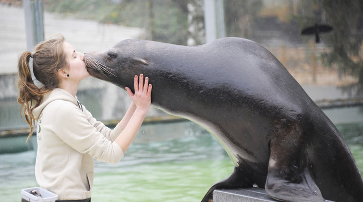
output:
<instances>
[{"instance_id":1,"label":"large dark wet sea lion being kissed on the snout","mask_svg":"<svg viewBox=\"0 0 363 202\"><path fill-rule=\"evenodd\" d=\"M254 185L280 201L363 201L362 175L342 135L258 43L122 40L84 61L91 76L122 88L133 88L132 78L144 74L154 106L200 124L221 142L235 169L202 202L215 189Z\"/></svg>"}]
</instances>

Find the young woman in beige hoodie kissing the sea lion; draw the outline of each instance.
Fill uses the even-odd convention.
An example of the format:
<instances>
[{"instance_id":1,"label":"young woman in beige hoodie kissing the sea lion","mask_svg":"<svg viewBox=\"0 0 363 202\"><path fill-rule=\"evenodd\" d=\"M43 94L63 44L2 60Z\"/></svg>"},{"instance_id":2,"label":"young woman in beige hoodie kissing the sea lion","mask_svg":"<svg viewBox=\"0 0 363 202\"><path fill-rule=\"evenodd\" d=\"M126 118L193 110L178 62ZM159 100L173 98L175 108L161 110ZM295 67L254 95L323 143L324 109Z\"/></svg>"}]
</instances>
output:
<instances>
[{"instance_id":1,"label":"young woman in beige hoodie kissing the sea lion","mask_svg":"<svg viewBox=\"0 0 363 202\"><path fill-rule=\"evenodd\" d=\"M31 78L30 58L34 75L42 84L39 88ZM83 54L76 52L62 35L40 42L33 53L23 52L18 68L18 102L31 128L28 139L38 121L38 184L57 194L61 202L89 202L94 159L119 162L150 108L152 86L148 78L135 76L135 94L126 87L132 103L111 130L77 100L78 86L89 73Z\"/></svg>"}]
</instances>

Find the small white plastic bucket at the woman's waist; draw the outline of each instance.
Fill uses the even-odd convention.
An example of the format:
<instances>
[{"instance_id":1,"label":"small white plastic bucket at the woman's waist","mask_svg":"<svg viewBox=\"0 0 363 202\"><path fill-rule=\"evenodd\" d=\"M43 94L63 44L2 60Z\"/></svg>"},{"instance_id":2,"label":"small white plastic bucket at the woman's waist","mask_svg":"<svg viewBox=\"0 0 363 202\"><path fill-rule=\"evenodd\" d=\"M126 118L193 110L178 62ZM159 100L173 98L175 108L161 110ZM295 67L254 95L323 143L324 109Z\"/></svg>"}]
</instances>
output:
<instances>
[{"instance_id":1,"label":"small white plastic bucket at the woman's waist","mask_svg":"<svg viewBox=\"0 0 363 202\"><path fill-rule=\"evenodd\" d=\"M37 190L41 196L33 195L30 192ZM29 202L55 202L58 196L40 187L33 187L21 190L22 198Z\"/></svg>"}]
</instances>

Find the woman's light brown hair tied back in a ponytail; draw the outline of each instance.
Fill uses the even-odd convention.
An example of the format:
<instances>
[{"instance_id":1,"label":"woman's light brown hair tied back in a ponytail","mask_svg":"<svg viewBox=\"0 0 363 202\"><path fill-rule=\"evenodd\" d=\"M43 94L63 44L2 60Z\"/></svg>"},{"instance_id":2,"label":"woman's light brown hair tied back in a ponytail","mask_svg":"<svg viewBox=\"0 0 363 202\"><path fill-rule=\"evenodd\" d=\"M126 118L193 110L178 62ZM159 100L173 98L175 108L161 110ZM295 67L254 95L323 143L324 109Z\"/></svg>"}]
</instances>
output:
<instances>
[{"instance_id":1,"label":"woman's light brown hair tied back in a ponytail","mask_svg":"<svg viewBox=\"0 0 363 202\"><path fill-rule=\"evenodd\" d=\"M50 40L40 42L34 52L25 51L20 54L18 63L18 88L20 103L20 115L29 124L29 140L34 131L35 118L33 109L38 107L44 94L58 87L58 70L69 66L66 55L63 52L64 37L61 34L54 35ZM34 84L30 73L29 60L33 58L33 72L35 78L42 84L38 87Z\"/></svg>"}]
</instances>

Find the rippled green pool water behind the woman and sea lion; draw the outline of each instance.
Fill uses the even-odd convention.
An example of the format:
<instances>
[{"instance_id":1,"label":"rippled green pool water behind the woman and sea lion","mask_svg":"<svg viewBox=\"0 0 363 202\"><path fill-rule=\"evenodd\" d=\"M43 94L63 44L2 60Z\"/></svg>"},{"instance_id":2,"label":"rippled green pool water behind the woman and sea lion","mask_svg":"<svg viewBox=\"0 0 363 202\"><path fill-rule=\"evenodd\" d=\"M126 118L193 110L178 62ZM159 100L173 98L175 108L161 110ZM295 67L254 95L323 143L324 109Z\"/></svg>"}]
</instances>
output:
<instances>
[{"instance_id":1,"label":"rippled green pool water behind the woman and sea lion","mask_svg":"<svg viewBox=\"0 0 363 202\"><path fill-rule=\"evenodd\" d=\"M337 127L363 173L363 123ZM1 202L19 202L21 189L38 186L35 155L0 155ZM198 202L232 171L220 143L198 125L145 125L119 163L95 162L92 202Z\"/></svg>"}]
</instances>

